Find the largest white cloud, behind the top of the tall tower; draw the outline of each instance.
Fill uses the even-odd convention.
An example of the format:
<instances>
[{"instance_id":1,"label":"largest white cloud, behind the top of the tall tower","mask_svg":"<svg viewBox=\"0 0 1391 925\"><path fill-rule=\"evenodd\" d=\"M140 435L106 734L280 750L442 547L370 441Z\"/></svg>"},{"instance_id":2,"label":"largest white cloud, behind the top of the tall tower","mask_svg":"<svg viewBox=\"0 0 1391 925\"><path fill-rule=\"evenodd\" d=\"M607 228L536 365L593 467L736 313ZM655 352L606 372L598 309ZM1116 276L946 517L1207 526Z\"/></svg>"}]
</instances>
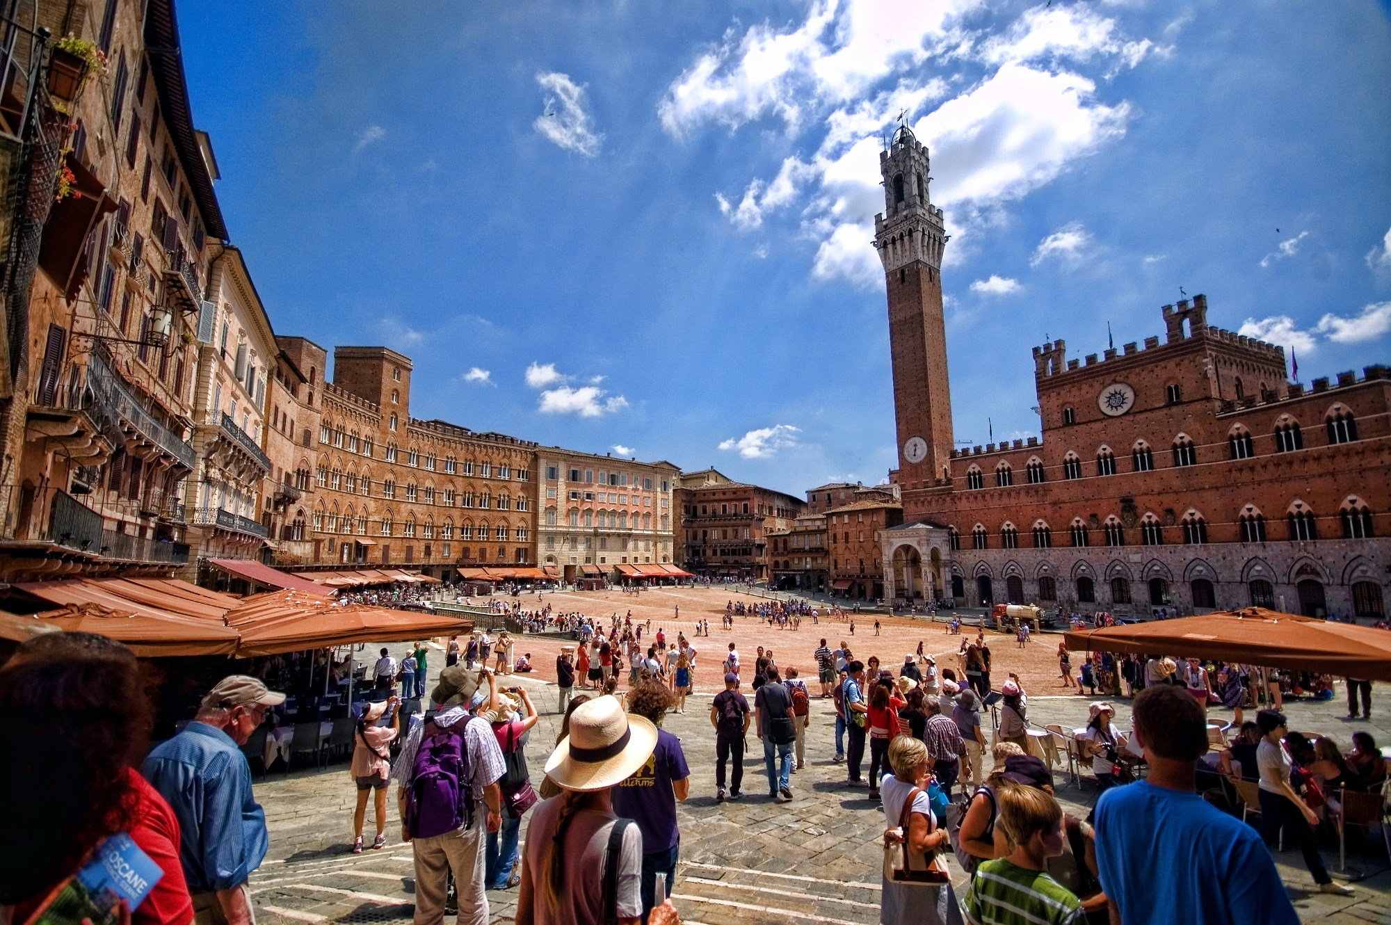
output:
<instances>
[{"instance_id":1,"label":"largest white cloud, behind the top of the tall tower","mask_svg":"<svg viewBox=\"0 0 1391 925\"><path fill-rule=\"evenodd\" d=\"M818 242L814 277L882 285L871 243L879 152L906 113L932 152L932 200L956 236L946 259L958 259L972 227L1124 135L1129 104L1100 102L1078 65L1114 72L1160 51L1081 4L1035 7L990 36L967 21L979 6L900 4L890 17L876 0L812 0L801 21L732 28L670 83L661 122L677 139L758 120L811 135L811 150L786 157L773 179L715 202L741 231L796 209Z\"/></svg>"}]
</instances>

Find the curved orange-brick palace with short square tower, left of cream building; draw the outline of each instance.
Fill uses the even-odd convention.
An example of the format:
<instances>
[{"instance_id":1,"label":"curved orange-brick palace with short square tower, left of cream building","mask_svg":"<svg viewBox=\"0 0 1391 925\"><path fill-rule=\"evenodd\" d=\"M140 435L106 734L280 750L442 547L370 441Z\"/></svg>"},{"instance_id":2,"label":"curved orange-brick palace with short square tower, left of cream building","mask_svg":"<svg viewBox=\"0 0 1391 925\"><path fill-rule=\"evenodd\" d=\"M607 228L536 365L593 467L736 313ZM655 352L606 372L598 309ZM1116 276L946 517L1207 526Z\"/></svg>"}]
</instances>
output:
<instances>
[{"instance_id":1,"label":"curved orange-brick palace with short square tower, left of cream building","mask_svg":"<svg viewBox=\"0 0 1391 925\"><path fill-rule=\"evenodd\" d=\"M536 444L410 417L410 359L339 346L314 445L313 563L536 565Z\"/></svg>"}]
</instances>

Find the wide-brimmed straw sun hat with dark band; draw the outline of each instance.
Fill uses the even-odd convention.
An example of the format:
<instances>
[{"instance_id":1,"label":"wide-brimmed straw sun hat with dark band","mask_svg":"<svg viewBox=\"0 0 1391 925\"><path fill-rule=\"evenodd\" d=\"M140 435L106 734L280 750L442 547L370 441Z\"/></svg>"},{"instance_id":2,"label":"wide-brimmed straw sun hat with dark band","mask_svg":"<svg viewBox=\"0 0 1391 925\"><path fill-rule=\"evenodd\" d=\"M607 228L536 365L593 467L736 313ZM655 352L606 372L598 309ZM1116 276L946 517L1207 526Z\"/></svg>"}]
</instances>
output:
<instances>
[{"instance_id":1,"label":"wide-brimmed straw sun hat with dark band","mask_svg":"<svg viewBox=\"0 0 1391 925\"><path fill-rule=\"evenodd\" d=\"M545 762L545 773L566 790L606 790L633 776L657 747L657 726L623 712L616 697L595 697L570 714L570 734Z\"/></svg>"}]
</instances>

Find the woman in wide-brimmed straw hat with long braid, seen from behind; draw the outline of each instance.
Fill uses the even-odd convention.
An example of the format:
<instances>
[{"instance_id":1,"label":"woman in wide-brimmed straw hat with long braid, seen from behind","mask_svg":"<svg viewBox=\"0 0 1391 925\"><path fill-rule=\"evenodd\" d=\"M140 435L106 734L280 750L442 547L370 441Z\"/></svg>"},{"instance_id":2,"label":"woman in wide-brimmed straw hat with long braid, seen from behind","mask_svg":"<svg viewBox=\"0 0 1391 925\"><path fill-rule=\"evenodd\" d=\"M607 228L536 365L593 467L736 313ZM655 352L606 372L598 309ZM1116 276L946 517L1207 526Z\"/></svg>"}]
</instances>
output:
<instances>
[{"instance_id":1,"label":"woman in wide-brimmed straw hat with long braid, seen from behind","mask_svg":"<svg viewBox=\"0 0 1391 925\"><path fill-rule=\"evenodd\" d=\"M561 794L538 804L527 828L517 925L601 925L609 915L620 925L641 922L643 835L613 815L612 789L655 747L657 726L625 712L616 697L598 697L570 714L570 734L545 762ZM679 921L670 903L654 908L648 919L650 925Z\"/></svg>"}]
</instances>

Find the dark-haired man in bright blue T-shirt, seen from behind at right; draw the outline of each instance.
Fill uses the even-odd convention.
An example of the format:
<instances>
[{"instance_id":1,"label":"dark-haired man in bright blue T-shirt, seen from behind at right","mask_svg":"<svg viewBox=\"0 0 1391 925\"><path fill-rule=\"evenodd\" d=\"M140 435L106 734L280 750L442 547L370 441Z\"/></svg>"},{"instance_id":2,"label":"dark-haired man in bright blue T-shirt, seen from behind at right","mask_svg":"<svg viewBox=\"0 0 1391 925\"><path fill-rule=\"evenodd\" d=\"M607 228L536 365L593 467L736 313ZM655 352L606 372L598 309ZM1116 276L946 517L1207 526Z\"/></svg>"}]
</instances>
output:
<instances>
[{"instance_id":1,"label":"dark-haired man in bright blue T-shirt, seen from behind at right","mask_svg":"<svg viewBox=\"0 0 1391 925\"><path fill-rule=\"evenodd\" d=\"M1182 687L1135 697L1135 739L1149 776L1096 804L1096 867L1124 925L1296 925L1260 833L1193 791L1207 721Z\"/></svg>"}]
</instances>

